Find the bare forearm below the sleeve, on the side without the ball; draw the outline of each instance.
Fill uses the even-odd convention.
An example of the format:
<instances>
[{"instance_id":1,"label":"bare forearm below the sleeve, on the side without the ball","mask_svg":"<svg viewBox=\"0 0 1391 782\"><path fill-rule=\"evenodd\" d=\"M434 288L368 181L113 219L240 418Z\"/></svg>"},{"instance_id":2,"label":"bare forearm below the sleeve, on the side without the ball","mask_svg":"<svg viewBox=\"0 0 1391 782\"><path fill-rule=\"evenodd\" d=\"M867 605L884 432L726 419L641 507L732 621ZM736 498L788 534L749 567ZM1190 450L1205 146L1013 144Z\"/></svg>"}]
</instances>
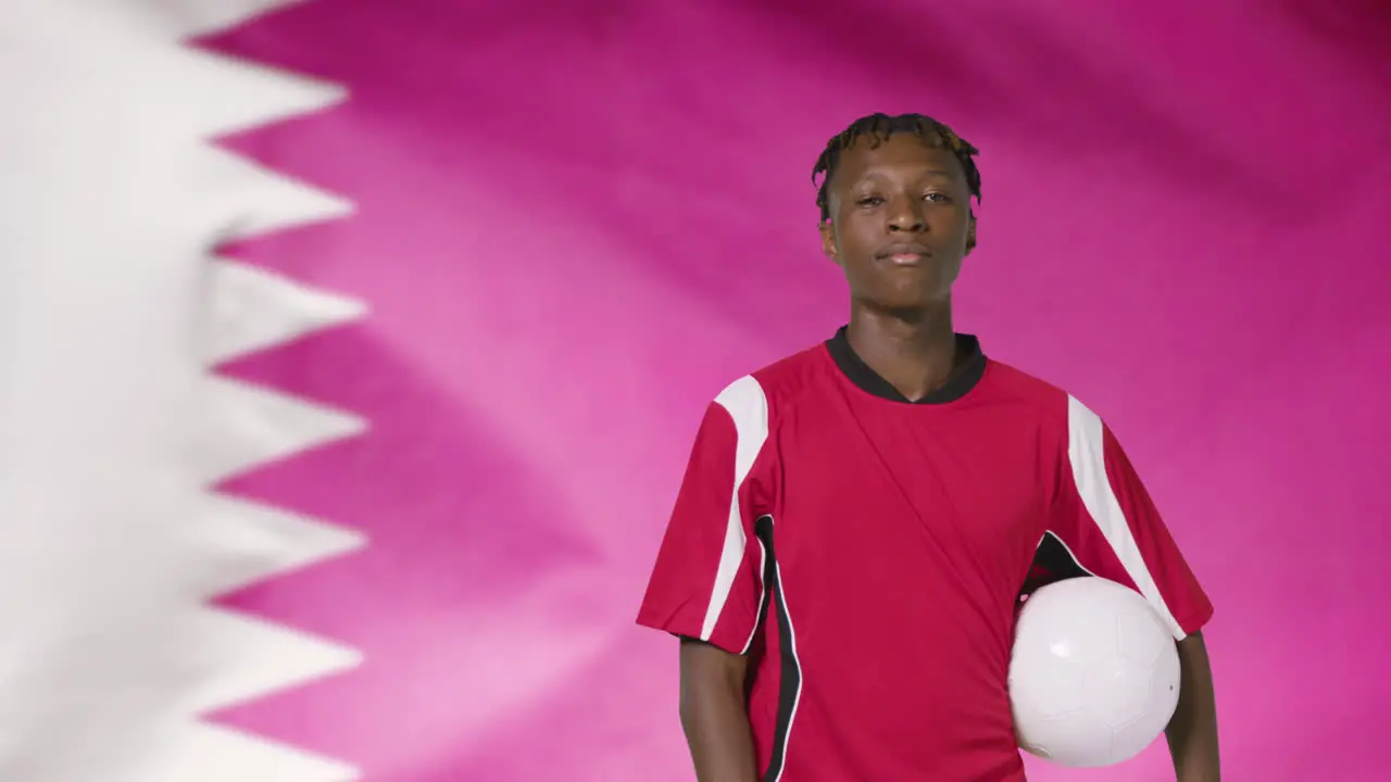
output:
<instances>
[{"instance_id":1,"label":"bare forearm below the sleeve, on the side without the ball","mask_svg":"<svg viewBox=\"0 0 1391 782\"><path fill-rule=\"evenodd\" d=\"M748 658L682 639L680 711L698 782L758 782L744 682Z\"/></svg>"}]
</instances>

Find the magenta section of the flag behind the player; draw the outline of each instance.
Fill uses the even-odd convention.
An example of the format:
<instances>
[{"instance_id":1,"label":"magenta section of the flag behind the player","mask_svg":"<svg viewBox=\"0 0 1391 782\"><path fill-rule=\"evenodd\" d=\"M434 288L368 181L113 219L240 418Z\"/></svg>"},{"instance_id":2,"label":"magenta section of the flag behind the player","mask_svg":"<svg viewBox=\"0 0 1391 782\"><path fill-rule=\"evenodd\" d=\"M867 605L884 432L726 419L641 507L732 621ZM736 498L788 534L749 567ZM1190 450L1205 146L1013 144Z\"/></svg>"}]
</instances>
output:
<instances>
[{"instance_id":1,"label":"magenta section of the flag behind the player","mask_svg":"<svg viewBox=\"0 0 1391 782\"><path fill-rule=\"evenodd\" d=\"M1391 14L1117 8L312 0L196 42L348 89L221 143L356 213L228 253L371 310L220 370L370 422L223 486L369 537L221 600L366 662L214 719L374 782L689 778L633 616L690 440L842 323L826 139L922 111L983 150L958 326L1107 419L1217 607L1228 775L1380 778Z\"/></svg>"}]
</instances>

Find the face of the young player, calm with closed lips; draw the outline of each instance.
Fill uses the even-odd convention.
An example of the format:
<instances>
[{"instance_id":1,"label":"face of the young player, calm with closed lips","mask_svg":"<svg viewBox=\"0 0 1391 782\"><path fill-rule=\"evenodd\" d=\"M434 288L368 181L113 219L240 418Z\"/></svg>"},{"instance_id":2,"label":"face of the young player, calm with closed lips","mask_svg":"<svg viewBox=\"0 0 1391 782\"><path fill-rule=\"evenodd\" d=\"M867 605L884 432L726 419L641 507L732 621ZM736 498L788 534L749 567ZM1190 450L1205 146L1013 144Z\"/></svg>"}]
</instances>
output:
<instances>
[{"instance_id":1,"label":"face of the young player, calm with closed lips","mask_svg":"<svg viewBox=\"0 0 1391 782\"><path fill-rule=\"evenodd\" d=\"M822 248L846 273L851 296L883 310L946 301L971 250L971 191L950 149L912 134L879 146L857 139L828 188Z\"/></svg>"}]
</instances>

